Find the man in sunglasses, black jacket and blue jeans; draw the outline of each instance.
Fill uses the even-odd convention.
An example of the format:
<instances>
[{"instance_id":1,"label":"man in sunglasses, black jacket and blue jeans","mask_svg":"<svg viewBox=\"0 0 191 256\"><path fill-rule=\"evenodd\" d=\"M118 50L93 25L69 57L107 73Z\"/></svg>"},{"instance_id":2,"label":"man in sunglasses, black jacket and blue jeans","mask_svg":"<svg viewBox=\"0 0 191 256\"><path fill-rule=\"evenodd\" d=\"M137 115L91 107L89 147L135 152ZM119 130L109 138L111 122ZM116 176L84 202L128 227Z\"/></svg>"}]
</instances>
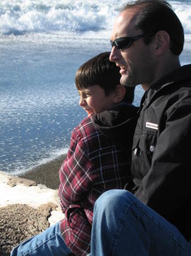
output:
<instances>
[{"instance_id":1,"label":"man in sunglasses, black jacket and blue jeans","mask_svg":"<svg viewBox=\"0 0 191 256\"><path fill-rule=\"evenodd\" d=\"M133 185L96 201L91 256L191 255L191 65L180 67L180 20L165 1L129 3L111 44L121 84L142 84L146 92L133 139Z\"/></svg>"}]
</instances>

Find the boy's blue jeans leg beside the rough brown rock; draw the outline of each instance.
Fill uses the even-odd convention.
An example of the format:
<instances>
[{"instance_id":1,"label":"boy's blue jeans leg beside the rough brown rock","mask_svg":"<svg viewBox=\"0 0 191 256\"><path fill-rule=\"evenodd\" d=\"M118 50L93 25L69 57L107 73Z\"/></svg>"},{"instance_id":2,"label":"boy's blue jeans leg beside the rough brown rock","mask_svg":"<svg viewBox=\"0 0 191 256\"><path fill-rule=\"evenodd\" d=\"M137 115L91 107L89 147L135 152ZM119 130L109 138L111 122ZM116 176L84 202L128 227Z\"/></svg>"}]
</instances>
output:
<instances>
[{"instance_id":1,"label":"boy's blue jeans leg beside the rough brown rock","mask_svg":"<svg viewBox=\"0 0 191 256\"><path fill-rule=\"evenodd\" d=\"M70 254L71 251L63 241L60 224L57 222L43 233L20 243L11 251L10 256L66 256Z\"/></svg>"}]
</instances>

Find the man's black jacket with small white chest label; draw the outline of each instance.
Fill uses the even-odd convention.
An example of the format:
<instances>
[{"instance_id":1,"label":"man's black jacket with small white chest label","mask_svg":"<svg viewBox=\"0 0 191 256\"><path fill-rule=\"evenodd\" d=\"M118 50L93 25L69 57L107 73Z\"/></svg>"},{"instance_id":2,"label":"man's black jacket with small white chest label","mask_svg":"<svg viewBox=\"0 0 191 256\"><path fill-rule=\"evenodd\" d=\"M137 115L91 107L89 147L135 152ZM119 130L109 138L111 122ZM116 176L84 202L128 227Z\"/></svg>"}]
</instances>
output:
<instances>
[{"instance_id":1,"label":"man's black jacket with small white chest label","mask_svg":"<svg viewBox=\"0 0 191 256\"><path fill-rule=\"evenodd\" d=\"M191 65L169 73L146 91L132 149L135 196L189 238Z\"/></svg>"}]
</instances>

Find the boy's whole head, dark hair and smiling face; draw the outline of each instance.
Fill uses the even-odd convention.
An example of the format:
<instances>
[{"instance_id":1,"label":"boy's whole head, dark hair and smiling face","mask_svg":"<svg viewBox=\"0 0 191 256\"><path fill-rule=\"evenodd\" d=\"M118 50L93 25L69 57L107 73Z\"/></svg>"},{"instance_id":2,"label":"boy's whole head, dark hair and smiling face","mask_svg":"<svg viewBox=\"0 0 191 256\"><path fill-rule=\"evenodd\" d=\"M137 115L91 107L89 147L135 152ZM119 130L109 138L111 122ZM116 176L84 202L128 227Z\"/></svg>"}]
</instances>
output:
<instances>
[{"instance_id":1,"label":"boy's whole head, dark hair and smiling face","mask_svg":"<svg viewBox=\"0 0 191 256\"><path fill-rule=\"evenodd\" d=\"M134 87L120 85L120 68L109 60L110 52L103 52L86 61L75 74L80 94L79 105L88 115L112 109L120 101L132 103Z\"/></svg>"}]
</instances>

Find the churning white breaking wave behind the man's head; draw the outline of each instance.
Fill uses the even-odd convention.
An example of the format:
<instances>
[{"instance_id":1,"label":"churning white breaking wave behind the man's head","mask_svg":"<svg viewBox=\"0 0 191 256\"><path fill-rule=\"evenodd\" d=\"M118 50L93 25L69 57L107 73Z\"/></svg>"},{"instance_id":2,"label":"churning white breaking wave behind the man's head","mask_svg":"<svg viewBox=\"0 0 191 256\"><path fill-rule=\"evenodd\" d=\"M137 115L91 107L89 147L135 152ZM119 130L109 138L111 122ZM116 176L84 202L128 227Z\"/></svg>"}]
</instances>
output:
<instances>
[{"instance_id":1,"label":"churning white breaking wave behind the man's head","mask_svg":"<svg viewBox=\"0 0 191 256\"><path fill-rule=\"evenodd\" d=\"M4 0L0 3L0 34L111 30L126 0ZM189 1L169 1L186 34L191 34Z\"/></svg>"}]
</instances>

